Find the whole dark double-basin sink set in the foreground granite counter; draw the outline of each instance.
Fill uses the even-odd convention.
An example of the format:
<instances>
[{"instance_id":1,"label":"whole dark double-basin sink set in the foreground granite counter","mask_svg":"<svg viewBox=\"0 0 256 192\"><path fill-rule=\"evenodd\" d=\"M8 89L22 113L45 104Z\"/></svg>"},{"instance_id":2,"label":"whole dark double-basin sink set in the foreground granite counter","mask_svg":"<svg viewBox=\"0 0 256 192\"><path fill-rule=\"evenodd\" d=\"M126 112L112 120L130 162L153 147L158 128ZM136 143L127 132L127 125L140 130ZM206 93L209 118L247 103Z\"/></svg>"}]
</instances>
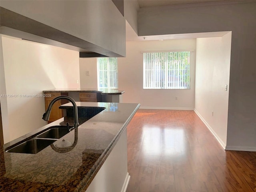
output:
<instances>
[{"instance_id":1,"label":"whole dark double-basin sink set in the foreground granite counter","mask_svg":"<svg viewBox=\"0 0 256 192\"><path fill-rule=\"evenodd\" d=\"M6 152L37 154L59 138L70 132L69 126L51 126L45 132L38 134L17 146L6 150Z\"/></svg>"}]
</instances>

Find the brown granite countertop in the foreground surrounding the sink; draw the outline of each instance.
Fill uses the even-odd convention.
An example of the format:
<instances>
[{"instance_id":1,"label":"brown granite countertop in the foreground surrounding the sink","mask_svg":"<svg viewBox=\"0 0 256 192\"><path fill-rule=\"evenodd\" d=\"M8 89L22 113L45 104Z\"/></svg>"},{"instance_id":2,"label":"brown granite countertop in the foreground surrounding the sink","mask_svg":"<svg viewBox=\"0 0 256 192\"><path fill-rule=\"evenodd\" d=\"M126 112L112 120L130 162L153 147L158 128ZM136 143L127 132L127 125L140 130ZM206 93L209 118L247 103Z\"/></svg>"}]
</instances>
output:
<instances>
[{"instance_id":1,"label":"brown granite countertop in the foreground surrounding the sink","mask_svg":"<svg viewBox=\"0 0 256 192\"><path fill-rule=\"evenodd\" d=\"M51 146L37 154L3 152L11 145L32 138L50 126L59 125L64 118L4 144L1 150L1 192L85 191L140 106L97 102L76 104L78 107L106 109L54 142L56 145L65 139L73 143L77 134L77 144L68 152L56 152Z\"/></svg>"}]
</instances>

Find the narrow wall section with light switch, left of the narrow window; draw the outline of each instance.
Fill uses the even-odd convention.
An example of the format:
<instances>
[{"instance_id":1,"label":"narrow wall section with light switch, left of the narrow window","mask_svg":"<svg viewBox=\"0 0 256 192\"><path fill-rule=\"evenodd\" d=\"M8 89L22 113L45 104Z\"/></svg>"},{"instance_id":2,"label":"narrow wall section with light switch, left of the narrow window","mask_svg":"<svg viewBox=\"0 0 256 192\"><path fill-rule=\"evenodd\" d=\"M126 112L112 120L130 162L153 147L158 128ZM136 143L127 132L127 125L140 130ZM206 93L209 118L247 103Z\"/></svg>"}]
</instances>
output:
<instances>
[{"instance_id":1,"label":"narrow wall section with light switch, left of the narrow window","mask_svg":"<svg viewBox=\"0 0 256 192\"><path fill-rule=\"evenodd\" d=\"M81 88L98 88L97 58L79 58ZM89 76L86 75L89 72Z\"/></svg>"}]
</instances>

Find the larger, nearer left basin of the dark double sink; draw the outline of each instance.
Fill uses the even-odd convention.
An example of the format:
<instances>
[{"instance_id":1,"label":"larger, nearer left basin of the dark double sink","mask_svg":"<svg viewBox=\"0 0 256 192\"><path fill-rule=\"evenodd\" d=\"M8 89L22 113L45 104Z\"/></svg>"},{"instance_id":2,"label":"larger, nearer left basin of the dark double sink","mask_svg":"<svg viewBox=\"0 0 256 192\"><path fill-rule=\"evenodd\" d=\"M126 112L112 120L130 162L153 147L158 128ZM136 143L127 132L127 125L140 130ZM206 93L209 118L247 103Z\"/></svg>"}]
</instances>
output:
<instances>
[{"instance_id":1,"label":"larger, nearer left basin of the dark double sink","mask_svg":"<svg viewBox=\"0 0 256 192\"><path fill-rule=\"evenodd\" d=\"M31 139L7 150L6 152L37 154L55 141L56 139Z\"/></svg>"}]
</instances>

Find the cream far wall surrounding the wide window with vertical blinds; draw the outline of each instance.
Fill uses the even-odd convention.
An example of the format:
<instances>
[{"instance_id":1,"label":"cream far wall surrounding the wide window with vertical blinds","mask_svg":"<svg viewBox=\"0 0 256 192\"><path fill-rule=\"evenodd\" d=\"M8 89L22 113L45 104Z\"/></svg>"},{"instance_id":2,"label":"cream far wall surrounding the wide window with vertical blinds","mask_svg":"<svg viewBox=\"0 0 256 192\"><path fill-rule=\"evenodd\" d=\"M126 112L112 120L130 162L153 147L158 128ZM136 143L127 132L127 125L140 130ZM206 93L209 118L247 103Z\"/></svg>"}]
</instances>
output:
<instances>
[{"instance_id":1,"label":"cream far wall surrounding the wide window with vertical blinds","mask_svg":"<svg viewBox=\"0 0 256 192\"><path fill-rule=\"evenodd\" d=\"M142 108L194 109L195 52L191 58L189 90L143 89L145 50L195 50L196 39L126 42L126 58L118 58L118 88L124 90L123 102L140 103ZM175 100L178 97L178 100Z\"/></svg>"}]
</instances>

